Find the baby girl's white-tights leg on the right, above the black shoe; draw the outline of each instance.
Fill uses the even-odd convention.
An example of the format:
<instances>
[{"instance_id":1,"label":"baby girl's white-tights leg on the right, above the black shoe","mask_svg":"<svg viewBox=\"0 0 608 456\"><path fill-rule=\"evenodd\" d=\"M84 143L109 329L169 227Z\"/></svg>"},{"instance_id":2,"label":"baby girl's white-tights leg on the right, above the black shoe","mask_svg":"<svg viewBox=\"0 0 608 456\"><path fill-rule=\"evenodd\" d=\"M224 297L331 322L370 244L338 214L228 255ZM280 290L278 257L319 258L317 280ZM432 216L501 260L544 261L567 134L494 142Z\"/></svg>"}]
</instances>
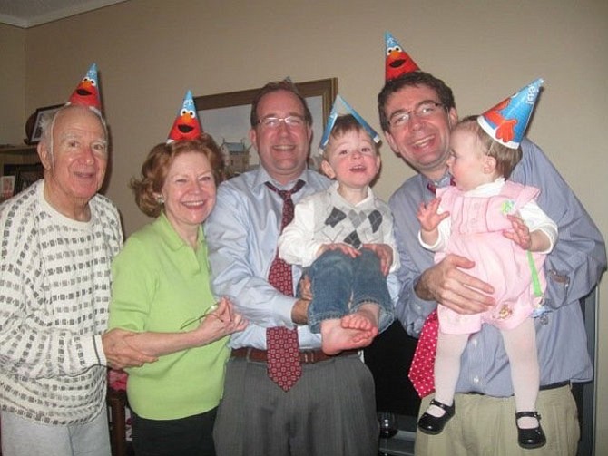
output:
<instances>
[{"instance_id":1,"label":"baby girl's white-tights leg on the right, above the black shoe","mask_svg":"<svg viewBox=\"0 0 608 456\"><path fill-rule=\"evenodd\" d=\"M502 334L511 364L515 412L534 412L540 383L534 319L526 318L524 323L502 331ZM517 423L523 429L538 426L538 420L534 417L519 418Z\"/></svg>"}]
</instances>

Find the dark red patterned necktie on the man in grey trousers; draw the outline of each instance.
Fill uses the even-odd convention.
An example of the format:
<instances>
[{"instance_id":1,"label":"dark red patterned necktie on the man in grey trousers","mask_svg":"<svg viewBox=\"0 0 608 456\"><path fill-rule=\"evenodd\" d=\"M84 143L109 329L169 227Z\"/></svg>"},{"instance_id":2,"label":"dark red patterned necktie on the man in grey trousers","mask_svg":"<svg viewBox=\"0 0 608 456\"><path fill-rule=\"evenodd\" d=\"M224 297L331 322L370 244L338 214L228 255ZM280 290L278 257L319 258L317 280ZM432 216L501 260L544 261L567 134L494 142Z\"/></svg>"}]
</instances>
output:
<instances>
[{"instance_id":1,"label":"dark red patterned necktie on the man in grey trousers","mask_svg":"<svg viewBox=\"0 0 608 456\"><path fill-rule=\"evenodd\" d=\"M304 183L304 180L300 179L291 189L279 190L270 182L266 182L266 186L278 193L280 198L283 199L281 231L293 220L294 207L291 195L299 191ZM283 295L293 296L291 266L278 256L274 258L270 265L268 281ZM289 391L298 382L302 374L302 366L299 363L298 330L296 328L288 329L285 326L267 328L266 350L268 354L268 376L284 391Z\"/></svg>"}]
</instances>

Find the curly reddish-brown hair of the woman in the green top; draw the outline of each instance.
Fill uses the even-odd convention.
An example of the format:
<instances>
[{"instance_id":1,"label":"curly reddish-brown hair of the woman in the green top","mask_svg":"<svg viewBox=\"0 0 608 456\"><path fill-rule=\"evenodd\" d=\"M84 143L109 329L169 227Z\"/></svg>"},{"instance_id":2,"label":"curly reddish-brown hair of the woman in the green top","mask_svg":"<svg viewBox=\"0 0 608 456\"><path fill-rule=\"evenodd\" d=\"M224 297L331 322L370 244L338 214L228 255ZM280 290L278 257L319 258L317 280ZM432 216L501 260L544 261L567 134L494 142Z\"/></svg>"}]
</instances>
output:
<instances>
[{"instance_id":1,"label":"curly reddish-brown hair of the woman in the green top","mask_svg":"<svg viewBox=\"0 0 608 456\"><path fill-rule=\"evenodd\" d=\"M162 201L158 195L167 178L173 160L182 153L198 152L207 157L211 163L211 170L216 185L223 180L223 160L221 150L211 138L211 135L202 133L196 140L178 140L155 145L142 164L142 176L131 179L129 187L135 194L135 203L142 212L149 217L158 217L162 212Z\"/></svg>"}]
</instances>

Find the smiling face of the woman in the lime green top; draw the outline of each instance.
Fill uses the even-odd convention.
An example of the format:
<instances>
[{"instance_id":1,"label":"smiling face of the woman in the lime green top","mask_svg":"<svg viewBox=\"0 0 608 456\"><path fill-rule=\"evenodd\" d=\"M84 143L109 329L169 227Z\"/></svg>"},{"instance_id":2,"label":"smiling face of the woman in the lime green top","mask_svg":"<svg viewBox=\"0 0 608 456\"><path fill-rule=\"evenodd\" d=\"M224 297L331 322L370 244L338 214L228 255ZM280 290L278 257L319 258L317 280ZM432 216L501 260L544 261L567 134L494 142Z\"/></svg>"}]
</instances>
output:
<instances>
[{"instance_id":1,"label":"smiling face of the woman in the lime green top","mask_svg":"<svg viewBox=\"0 0 608 456\"><path fill-rule=\"evenodd\" d=\"M183 152L172 161L162 185L164 211L172 227L191 243L215 206L211 163L198 151Z\"/></svg>"}]
</instances>

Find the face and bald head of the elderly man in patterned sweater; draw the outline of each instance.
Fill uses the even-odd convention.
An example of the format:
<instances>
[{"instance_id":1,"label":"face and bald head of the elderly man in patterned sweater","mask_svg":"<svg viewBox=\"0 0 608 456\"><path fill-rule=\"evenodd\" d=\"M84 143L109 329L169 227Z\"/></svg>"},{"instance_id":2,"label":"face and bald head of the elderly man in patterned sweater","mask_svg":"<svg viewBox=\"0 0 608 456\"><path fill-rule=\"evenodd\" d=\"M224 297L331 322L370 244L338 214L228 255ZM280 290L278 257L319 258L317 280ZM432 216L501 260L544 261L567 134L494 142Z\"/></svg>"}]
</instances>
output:
<instances>
[{"instance_id":1,"label":"face and bald head of the elderly man in patterned sweater","mask_svg":"<svg viewBox=\"0 0 608 456\"><path fill-rule=\"evenodd\" d=\"M52 132L38 154L44 166L44 196L67 217L87 206L102 187L108 141L102 121L88 108L70 106L57 113Z\"/></svg>"}]
</instances>

